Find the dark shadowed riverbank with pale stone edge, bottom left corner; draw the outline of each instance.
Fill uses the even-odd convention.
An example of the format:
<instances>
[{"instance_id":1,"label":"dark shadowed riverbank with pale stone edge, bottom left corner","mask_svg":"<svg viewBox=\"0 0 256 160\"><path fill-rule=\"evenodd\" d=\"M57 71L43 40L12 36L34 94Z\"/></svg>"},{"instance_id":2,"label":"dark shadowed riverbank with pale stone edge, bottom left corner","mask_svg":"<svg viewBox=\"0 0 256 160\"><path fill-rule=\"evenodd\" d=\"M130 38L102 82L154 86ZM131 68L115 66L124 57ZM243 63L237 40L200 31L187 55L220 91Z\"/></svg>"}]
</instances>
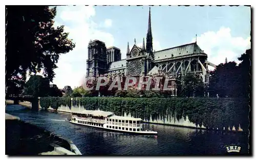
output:
<instances>
[{"instance_id":1,"label":"dark shadowed riverbank with pale stone edge, bottom left corner","mask_svg":"<svg viewBox=\"0 0 256 160\"><path fill-rule=\"evenodd\" d=\"M81 155L72 141L6 113L6 155Z\"/></svg>"}]
</instances>

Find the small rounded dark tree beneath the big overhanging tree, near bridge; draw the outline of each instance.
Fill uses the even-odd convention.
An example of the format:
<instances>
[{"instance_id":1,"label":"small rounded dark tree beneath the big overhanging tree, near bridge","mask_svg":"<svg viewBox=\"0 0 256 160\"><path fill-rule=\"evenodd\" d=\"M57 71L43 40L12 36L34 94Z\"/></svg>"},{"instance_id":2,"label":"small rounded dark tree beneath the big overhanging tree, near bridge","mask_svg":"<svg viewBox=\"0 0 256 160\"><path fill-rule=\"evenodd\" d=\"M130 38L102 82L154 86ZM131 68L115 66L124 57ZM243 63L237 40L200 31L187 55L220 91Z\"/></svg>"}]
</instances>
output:
<instances>
[{"instance_id":1,"label":"small rounded dark tree beneath the big overhanging tree, near bridge","mask_svg":"<svg viewBox=\"0 0 256 160\"><path fill-rule=\"evenodd\" d=\"M39 75L32 75L25 84L25 95L34 97L47 97L50 85L48 78Z\"/></svg>"}]
</instances>

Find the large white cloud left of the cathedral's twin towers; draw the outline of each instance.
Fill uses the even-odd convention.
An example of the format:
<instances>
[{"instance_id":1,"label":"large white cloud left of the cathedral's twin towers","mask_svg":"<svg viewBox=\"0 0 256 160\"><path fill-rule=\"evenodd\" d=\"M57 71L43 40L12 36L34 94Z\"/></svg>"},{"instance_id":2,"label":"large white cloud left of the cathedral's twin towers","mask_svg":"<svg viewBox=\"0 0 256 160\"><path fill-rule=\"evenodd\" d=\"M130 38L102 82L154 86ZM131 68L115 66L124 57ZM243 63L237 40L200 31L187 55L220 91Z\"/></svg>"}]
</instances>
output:
<instances>
[{"instance_id":1,"label":"large white cloud left of the cathedral's twin towers","mask_svg":"<svg viewBox=\"0 0 256 160\"><path fill-rule=\"evenodd\" d=\"M54 26L64 25L65 32L69 32L69 38L73 39L76 47L67 54L60 55L58 68L54 70L55 78L53 83L59 88L65 85L79 86L86 75L86 60L88 58L88 43L90 40L98 39L108 42L108 46L114 45L112 34L101 31L100 25L92 18L96 15L93 6L60 6L57 7ZM106 25L112 25L107 20Z\"/></svg>"}]
</instances>

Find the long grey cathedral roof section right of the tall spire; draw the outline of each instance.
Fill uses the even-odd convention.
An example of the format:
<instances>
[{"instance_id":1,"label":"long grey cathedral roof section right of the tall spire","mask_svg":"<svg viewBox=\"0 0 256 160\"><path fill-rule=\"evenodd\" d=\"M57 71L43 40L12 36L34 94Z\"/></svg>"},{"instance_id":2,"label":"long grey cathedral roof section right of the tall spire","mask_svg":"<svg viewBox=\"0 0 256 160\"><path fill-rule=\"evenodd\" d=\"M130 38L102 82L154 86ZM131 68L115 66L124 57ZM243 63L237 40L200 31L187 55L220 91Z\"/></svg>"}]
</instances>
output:
<instances>
[{"instance_id":1,"label":"long grey cathedral roof section right of the tall spire","mask_svg":"<svg viewBox=\"0 0 256 160\"><path fill-rule=\"evenodd\" d=\"M186 56L198 53L205 54L204 51L202 51L200 47L197 45L197 43L193 42L189 44L180 45L178 47L157 51L155 52L155 60Z\"/></svg>"}]
</instances>

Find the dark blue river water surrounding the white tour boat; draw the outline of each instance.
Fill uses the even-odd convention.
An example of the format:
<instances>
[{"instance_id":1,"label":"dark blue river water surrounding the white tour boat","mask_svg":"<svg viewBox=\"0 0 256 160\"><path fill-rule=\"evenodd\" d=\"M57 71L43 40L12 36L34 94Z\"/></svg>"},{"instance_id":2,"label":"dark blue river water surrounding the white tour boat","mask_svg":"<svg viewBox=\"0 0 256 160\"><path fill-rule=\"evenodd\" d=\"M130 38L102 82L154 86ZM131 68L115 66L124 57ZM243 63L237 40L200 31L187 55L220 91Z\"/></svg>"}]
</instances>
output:
<instances>
[{"instance_id":1,"label":"dark blue river water surrounding the white tour boat","mask_svg":"<svg viewBox=\"0 0 256 160\"><path fill-rule=\"evenodd\" d=\"M7 105L6 112L74 142L83 155L209 155L227 153L225 146L241 146L248 153L248 133L220 132L144 124L158 136L129 135L71 124L70 113L32 111L20 105Z\"/></svg>"}]
</instances>

